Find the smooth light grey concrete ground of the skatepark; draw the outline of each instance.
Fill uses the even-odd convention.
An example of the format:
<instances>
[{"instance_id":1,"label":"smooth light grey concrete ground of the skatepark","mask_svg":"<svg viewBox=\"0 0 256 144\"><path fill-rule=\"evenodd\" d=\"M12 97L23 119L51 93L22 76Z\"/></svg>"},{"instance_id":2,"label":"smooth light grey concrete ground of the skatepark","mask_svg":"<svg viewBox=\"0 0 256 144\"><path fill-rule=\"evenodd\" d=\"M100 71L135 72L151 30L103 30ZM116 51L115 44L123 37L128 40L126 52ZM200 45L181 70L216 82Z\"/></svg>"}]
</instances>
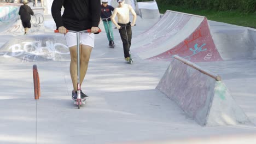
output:
<instances>
[{"instance_id":1,"label":"smooth light grey concrete ground of the skatepark","mask_svg":"<svg viewBox=\"0 0 256 144\"><path fill-rule=\"evenodd\" d=\"M49 15L45 17L47 24L41 35L54 34L53 20ZM133 37L157 21L138 17ZM4 47L8 40L8 43L20 44L21 37L33 35L0 35L0 44ZM110 49L106 33L96 35L82 85L89 99L80 109L71 100L68 58L24 62L6 57L2 52L0 143L256 142L255 58L196 63L222 77L232 97L252 122L251 125L202 127L155 89L170 62L147 61L134 54L134 63L127 64L115 29L114 39L116 46ZM40 77L39 100L34 100L34 64Z\"/></svg>"}]
</instances>

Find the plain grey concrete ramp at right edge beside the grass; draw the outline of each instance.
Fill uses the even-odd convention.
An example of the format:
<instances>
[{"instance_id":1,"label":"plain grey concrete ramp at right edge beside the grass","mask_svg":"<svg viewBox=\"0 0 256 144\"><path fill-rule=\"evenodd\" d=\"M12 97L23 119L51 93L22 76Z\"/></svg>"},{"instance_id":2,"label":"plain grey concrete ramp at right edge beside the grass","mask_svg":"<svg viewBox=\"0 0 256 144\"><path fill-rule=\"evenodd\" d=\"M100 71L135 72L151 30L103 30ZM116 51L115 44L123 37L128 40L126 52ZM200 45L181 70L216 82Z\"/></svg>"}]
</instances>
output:
<instances>
[{"instance_id":1,"label":"plain grey concrete ramp at right edge beside the grass","mask_svg":"<svg viewBox=\"0 0 256 144\"><path fill-rule=\"evenodd\" d=\"M211 32L224 61L256 58L256 29L209 21Z\"/></svg>"}]
</instances>

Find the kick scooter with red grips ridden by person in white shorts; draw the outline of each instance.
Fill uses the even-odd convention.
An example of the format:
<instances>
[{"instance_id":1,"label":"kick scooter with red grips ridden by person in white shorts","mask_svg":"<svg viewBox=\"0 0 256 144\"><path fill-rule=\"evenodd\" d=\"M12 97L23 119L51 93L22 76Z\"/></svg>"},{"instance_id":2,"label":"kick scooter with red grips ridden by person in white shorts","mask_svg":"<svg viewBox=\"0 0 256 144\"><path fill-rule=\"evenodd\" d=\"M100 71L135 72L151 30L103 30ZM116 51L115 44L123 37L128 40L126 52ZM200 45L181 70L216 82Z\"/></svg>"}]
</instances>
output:
<instances>
[{"instance_id":1,"label":"kick scooter with red grips ridden by person in white shorts","mask_svg":"<svg viewBox=\"0 0 256 144\"><path fill-rule=\"evenodd\" d=\"M55 33L59 33L59 30L55 30L54 31ZM85 104L85 100L82 100L81 99L81 89L80 89L80 34L81 33L90 33L91 32L91 29L87 29L87 30L84 30L84 31L79 31L79 32L76 32L76 31L69 31L67 30L67 32L71 32L71 33L76 33L77 34L77 100L74 100L74 104L78 106L78 109L80 109L80 106L81 105L84 105ZM98 30L98 32L101 32L101 29Z\"/></svg>"}]
</instances>

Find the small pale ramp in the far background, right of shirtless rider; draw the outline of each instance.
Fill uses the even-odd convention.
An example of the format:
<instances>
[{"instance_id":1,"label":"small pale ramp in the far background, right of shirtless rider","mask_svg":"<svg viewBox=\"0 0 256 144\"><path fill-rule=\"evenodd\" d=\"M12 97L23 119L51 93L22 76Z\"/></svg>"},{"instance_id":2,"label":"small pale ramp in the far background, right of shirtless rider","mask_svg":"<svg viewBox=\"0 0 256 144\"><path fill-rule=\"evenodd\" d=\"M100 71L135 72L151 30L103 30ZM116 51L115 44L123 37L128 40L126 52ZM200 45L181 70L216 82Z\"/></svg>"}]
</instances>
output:
<instances>
[{"instance_id":1,"label":"small pale ramp in the far background, right of shirtless rider","mask_svg":"<svg viewBox=\"0 0 256 144\"><path fill-rule=\"evenodd\" d=\"M155 19L160 17L156 2L138 2L138 11L142 19Z\"/></svg>"}]
</instances>

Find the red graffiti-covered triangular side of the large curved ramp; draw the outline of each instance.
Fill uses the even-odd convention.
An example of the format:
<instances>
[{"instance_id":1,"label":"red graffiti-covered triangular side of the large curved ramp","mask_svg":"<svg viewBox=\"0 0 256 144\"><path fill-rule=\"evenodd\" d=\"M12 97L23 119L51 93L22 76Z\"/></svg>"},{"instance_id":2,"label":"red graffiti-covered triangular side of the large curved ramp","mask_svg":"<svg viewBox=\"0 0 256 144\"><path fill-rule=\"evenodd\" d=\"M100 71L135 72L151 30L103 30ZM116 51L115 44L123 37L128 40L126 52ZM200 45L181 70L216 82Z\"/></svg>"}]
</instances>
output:
<instances>
[{"instance_id":1,"label":"red graffiti-covered triangular side of the large curved ramp","mask_svg":"<svg viewBox=\"0 0 256 144\"><path fill-rule=\"evenodd\" d=\"M212 39L207 19L185 40L176 46L168 46L172 49L148 58L150 61L170 61L174 55L178 55L191 62L222 61Z\"/></svg>"}]
</instances>

